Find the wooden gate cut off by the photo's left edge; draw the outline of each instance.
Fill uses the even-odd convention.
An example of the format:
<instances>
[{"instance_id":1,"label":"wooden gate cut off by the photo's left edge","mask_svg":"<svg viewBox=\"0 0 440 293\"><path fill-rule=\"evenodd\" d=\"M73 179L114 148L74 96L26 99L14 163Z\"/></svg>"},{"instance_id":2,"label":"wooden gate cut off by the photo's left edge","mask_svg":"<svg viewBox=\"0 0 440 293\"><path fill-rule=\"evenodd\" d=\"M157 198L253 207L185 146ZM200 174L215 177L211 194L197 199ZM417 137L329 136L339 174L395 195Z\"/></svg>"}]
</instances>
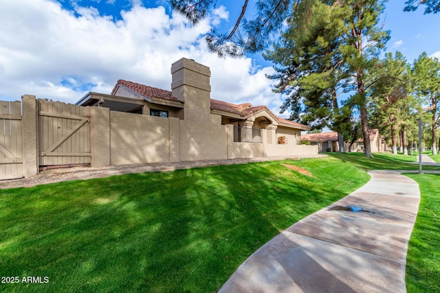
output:
<instances>
[{"instance_id":1,"label":"wooden gate cut off by the photo's left edge","mask_svg":"<svg viewBox=\"0 0 440 293\"><path fill-rule=\"evenodd\" d=\"M0 101L0 180L23 177L21 102Z\"/></svg>"}]
</instances>

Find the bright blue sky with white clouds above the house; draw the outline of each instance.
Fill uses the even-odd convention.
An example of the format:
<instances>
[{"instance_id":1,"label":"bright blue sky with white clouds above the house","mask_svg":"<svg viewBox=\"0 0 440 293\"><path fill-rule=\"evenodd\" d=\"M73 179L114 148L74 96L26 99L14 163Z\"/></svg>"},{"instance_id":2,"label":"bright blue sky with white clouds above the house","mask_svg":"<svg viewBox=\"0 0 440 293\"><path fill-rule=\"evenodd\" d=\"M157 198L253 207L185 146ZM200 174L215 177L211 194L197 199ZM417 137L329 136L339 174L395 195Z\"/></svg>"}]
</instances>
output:
<instances>
[{"instance_id":1,"label":"bright blue sky with white clouds above the house","mask_svg":"<svg viewBox=\"0 0 440 293\"><path fill-rule=\"evenodd\" d=\"M110 93L118 79L169 90L171 64L186 57L210 67L212 98L278 113L285 97L272 93L265 78L270 62L260 54L220 59L206 48L203 35L212 27L228 30L241 11L242 1L217 3L190 27L165 0L2 0L0 99L30 94L74 103L89 91ZM391 30L387 51L399 50L410 62L422 51L440 58L440 14L403 8L403 0L389 1L382 16Z\"/></svg>"}]
</instances>

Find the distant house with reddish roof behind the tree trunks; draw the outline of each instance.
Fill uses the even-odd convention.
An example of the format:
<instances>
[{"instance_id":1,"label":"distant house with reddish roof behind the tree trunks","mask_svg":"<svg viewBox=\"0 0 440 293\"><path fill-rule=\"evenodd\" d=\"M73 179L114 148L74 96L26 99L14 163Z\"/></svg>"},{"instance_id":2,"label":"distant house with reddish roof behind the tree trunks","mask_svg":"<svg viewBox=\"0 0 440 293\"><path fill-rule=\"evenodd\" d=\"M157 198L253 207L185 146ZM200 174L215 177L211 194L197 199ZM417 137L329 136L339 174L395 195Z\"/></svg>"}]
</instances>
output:
<instances>
[{"instance_id":1,"label":"distant house with reddish roof behind the tree trunks","mask_svg":"<svg viewBox=\"0 0 440 293\"><path fill-rule=\"evenodd\" d=\"M369 130L369 137L371 143L371 152L384 152L386 150L386 143L379 130ZM301 137L303 141L310 141L310 145L318 145L319 152L339 152L338 132L321 132L303 134ZM349 141L344 142L345 151L349 150ZM357 139L351 145L351 152L363 152L364 139Z\"/></svg>"}]
</instances>

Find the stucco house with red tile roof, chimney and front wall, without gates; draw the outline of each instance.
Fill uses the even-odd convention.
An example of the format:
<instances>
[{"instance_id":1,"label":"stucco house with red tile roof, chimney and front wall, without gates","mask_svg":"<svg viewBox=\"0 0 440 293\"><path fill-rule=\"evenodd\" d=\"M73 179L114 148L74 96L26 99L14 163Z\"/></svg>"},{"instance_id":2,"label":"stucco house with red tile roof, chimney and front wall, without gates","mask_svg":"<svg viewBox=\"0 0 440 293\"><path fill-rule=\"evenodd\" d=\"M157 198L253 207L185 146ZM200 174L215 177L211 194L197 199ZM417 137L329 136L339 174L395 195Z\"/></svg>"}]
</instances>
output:
<instances>
[{"instance_id":1,"label":"stucco house with red tile roof, chimney and front wall, without gates","mask_svg":"<svg viewBox=\"0 0 440 293\"><path fill-rule=\"evenodd\" d=\"M250 103L231 104L211 99L209 67L182 58L171 66L171 75L171 91L118 80L109 95L88 93L76 102L78 106L109 108L111 116L121 116L120 119L125 119L124 123L110 117L110 123L114 120L114 124L118 124L117 127L121 130L110 134L111 142L118 145L112 147L112 156L133 147L143 149L143 152L147 153L142 154L140 160L128 157L121 159L124 154L120 154L119 159L114 156L112 162L149 163L153 160L151 158L156 158L155 161L173 161L175 159L170 159L173 156L170 152L176 145L179 148L175 150L179 161L318 154L316 147L307 148L309 146L300 143L301 131L309 130L308 126L277 117L267 106L252 106ZM122 113L130 113L131 116L122 118ZM137 128L137 134L127 141L126 133L129 129L124 128L129 124L129 119L135 119L135 116L151 118L145 121L144 126L140 126L141 122L133 124L130 131L136 132L133 128ZM166 131L173 132L176 128L177 132L173 135L178 135L178 142L173 137L174 143L171 143L169 133L157 137L157 131L153 130L156 124L164 124L162 119L171 119ZM124 137L122 130L125 133ZM165 142L164 137L167 136L168 141ZM278 144L279 137L285 137L285 145ZM166 145L168 159L166 154L157 154L158 148L153 150L151 145L151 150L146 151L144 144L154 138ZM154 145L154 142L152 144ZM145 159L147 156L148 159ZM160 159L161 156L163 159Z\"/></svg>"}]
</instances>

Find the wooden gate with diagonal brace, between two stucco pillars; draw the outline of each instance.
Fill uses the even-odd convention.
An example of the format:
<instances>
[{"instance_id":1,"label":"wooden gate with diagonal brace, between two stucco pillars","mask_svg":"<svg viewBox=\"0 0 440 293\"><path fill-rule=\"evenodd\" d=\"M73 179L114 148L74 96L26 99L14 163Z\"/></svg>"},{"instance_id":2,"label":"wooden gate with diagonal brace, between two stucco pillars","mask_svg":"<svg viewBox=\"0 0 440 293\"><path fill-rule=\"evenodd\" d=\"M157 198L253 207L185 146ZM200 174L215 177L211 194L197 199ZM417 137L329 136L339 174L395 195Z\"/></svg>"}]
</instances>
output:
<instances>
[{"instance_id":1,"label":"wooden gate with diagonal brace, between two stucco pillars","mask_svg":"<svg viewBox=\"0 0 440 293\"><path fill-rule=\"evenodd\" d=\"M38 100L39 165L89 164L90 107Z\"/></svg>"}]
</instances>

